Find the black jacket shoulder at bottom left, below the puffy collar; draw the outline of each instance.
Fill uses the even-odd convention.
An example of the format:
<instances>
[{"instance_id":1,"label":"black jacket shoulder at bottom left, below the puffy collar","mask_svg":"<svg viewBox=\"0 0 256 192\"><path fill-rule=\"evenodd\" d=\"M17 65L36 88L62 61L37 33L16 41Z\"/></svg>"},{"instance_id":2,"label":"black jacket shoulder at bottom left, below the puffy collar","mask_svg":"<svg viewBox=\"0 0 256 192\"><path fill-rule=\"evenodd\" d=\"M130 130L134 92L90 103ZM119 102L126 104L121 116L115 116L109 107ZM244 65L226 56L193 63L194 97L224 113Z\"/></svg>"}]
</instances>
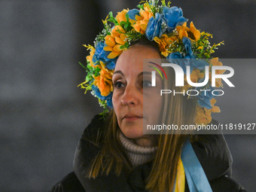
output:
<instances>
[{"instance_id":1,"label":"black jacket shoulder at bottom left, below the puffy collar","mask_svg":"<svg viewBox=\"0 0 256 192\"><path fill-rule=\"evenodd\" d=\"M78 180L75 172L70 172L65 178L57 182L50 190L50 192L85 192L84 187Z\"/></svg>"}]
</instances>

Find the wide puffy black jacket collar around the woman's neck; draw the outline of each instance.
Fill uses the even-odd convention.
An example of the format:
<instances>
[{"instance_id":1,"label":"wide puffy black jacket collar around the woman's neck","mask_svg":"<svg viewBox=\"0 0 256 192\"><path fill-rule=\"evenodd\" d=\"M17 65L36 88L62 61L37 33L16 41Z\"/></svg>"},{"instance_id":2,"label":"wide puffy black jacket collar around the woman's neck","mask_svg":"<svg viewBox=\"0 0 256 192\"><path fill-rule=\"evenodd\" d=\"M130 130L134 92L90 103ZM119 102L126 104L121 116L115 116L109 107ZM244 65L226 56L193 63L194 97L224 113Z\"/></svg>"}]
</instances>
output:
<instances>
[{"instance_id":1,"label":"wide puffy black jacket collar around the woman's neck","mask_svg":"<svg viewBox=\"0 0 256 192\"><path fill-rule=\"evenodd\" d=\"M136 191L145 190L144 181L150 173L151 163L136 167L128 178L124 174L117 176L114 173L95 179L86 178L88 166L100 150L100 146L90 142L91 138L98 134L102 135L105 122L100 117L96 115L93 118L78 143L73 164L75 175L86 191L132 191L131 187ZM221 175L230 175L232 157L224 136L199 135L197 141L192 143L192 147L209 181Z\"/></svg>"}]
</instances>

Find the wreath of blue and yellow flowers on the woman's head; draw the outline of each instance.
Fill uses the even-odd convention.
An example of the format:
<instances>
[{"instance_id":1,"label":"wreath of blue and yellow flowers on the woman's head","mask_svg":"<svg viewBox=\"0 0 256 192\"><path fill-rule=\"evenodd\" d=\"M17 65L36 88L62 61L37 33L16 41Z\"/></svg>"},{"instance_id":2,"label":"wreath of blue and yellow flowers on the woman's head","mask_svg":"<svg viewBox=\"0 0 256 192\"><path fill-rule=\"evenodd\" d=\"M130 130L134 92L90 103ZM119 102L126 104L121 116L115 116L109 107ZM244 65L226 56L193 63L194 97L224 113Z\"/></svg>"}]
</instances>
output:
<instances>
[{"instance_id":1,"label":"wreath of blue and yellow flowers on the woman's head","mask_svg":"<svg viewBox=\"0 0 256 192\"><path fill-rule=\"evenodd\" d=\"M184 78L184 90L207 89L214 90L211 87L212 66L222 66L218 58L212 58L211 54L215 49L223 44L209 43L209 37L212 34L200 32L196 29L193 22L190 27L187 26L187 19L183 17L181 8L170 7L170 2L166 5L165 0L158 5L158 0L149 0L140 2L139 9L123 9L113 17L112 12L108 14L105 20L102 20L104 29L96 36L94 47L84 45L90 50L90 56L87 56L87 76L82 84L82 89L92 90L93 96L99 99L99 105L104 108L103 114L108 112L108 107L112 108L112 75L118 56L130 47L132 41L146 37L150 41L157 42L161 54L170 62L175 59L206 59L207 62L190 63L190 79L197 83L204 79L205 66L209 66L209 83L204 87L191 87ZM177 63L184 69L184 63ZM224 70L217 70L216 74L224 73ZM185 73L184 73L185 74ZM221 79L216 79L216 87L222 87ZM216 100L212 92L200 92L197 96L197 114L195 123L207 124L212 121L212 112L220 112L215 106Z\"/></svg>"}]
</instances>

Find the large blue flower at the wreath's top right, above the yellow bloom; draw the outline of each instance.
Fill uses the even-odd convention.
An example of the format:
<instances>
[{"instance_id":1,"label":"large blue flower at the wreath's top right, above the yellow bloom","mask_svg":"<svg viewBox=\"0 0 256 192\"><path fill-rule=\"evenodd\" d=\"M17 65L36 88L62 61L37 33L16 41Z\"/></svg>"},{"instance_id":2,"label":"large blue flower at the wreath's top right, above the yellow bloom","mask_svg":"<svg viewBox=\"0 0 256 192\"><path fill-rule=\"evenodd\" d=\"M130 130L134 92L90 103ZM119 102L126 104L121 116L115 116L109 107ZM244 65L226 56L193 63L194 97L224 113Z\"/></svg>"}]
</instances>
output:
<instances>
[{"instance_id":1,"label":"large blue flower at the wreath's top right, above the yellow bloom","mask_svg":"<svg viewBox=\"0 0 256 192\"><path fill-rule=\"evenodd\" d=\"M181 26L184 22L187 22L187 19L183 17L183 12L181 8L172 7L167 8L163 7L163 18L166 20L168 26L167 31L172 32L176 26Z\"/></svg>"}]
</instances>

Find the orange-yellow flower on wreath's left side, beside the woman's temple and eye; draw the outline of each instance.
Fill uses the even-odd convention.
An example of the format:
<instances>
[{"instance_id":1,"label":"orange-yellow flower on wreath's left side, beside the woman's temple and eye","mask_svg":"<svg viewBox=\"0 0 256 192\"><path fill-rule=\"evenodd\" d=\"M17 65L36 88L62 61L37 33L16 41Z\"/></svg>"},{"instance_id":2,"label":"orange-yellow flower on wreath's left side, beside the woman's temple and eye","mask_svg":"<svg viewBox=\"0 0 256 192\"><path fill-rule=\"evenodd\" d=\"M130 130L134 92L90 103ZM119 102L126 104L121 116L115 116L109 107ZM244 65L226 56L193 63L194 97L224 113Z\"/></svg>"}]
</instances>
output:
<instances>
[{"instance_id":1,"label":"orange-yellow flower on wreath's left side, beside the woman's temple and eye","mask_svg":"<svg viewBox=\"0 0 256 192\"><path fill-rule=\"evenodd\" d=\"M108 96L113 91L112 75L114 70L105 69L105 64L101 61L99 68L102 70L99 72L99 76L93 77L93 84L99 88L102 96Z\"/></svg>"}]
</instances>

